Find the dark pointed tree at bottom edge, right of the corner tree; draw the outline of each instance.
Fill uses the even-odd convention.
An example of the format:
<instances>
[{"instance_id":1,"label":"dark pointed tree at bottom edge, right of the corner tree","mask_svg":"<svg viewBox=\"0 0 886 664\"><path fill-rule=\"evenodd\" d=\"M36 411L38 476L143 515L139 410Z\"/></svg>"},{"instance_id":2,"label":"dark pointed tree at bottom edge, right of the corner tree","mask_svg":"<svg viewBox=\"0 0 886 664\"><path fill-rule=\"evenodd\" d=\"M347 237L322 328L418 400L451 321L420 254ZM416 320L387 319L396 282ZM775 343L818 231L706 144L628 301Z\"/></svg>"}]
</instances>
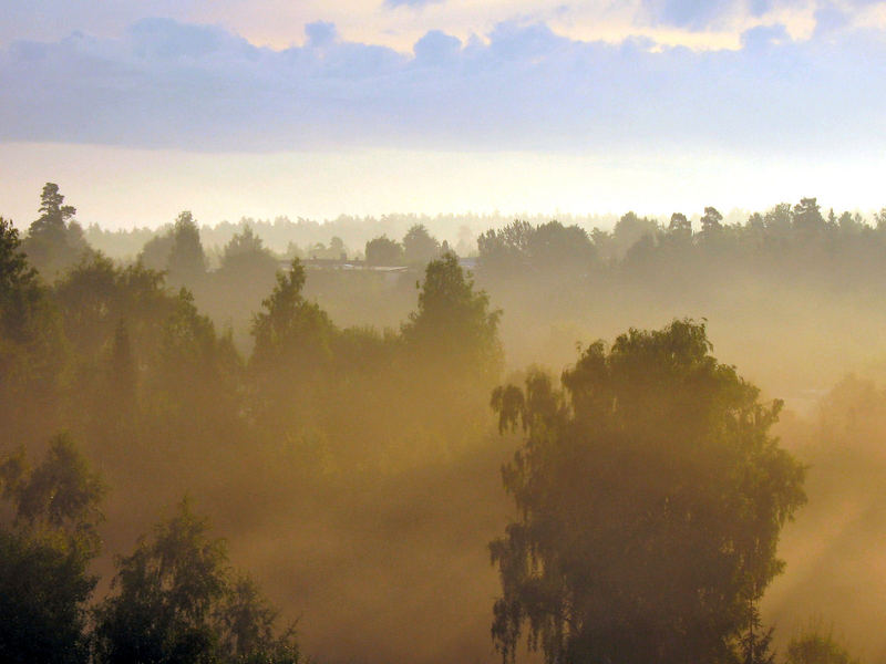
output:
<instances>
[{"instance_id":1,"label":"dark pointed tree at bottom edge, right of the corner tree","mask_svg":"<svg viewBox=\"0 0 886 664\"><path fill-rule=\"evenodd\" d=\"M233 577L224 541L208 531L183 500L117 559L115 594L95 612L96 662L297 664L293 630L277 634L276 612L251 581Z\"/></svg>"}]
</instances>

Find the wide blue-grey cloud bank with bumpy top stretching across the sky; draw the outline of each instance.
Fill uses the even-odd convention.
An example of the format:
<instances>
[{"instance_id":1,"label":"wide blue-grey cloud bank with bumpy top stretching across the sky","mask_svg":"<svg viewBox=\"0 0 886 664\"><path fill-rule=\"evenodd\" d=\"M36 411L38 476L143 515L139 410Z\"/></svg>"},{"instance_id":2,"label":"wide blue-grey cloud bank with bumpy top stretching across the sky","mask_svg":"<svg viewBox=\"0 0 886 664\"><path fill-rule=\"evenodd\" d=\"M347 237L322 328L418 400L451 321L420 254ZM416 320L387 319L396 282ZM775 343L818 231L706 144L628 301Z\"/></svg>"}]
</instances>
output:
<instances>
[{"instance_id":1,"label":"wide blue-grey cloud bank with bumpy top stretching across the sky","mask_svg":"<svg viewBox=\"0 0 886 664\"><path fill-rule=\"evenodd\" d=\"M331 23L305 30L282 50L168 19L16 42L0 51L0 141L771 154L872 149L884 129L880 33L794 41L761 27L739 51L698 52L511 21L466 41L432 30L402 53Z\"/></svg>"}]
</instances>

